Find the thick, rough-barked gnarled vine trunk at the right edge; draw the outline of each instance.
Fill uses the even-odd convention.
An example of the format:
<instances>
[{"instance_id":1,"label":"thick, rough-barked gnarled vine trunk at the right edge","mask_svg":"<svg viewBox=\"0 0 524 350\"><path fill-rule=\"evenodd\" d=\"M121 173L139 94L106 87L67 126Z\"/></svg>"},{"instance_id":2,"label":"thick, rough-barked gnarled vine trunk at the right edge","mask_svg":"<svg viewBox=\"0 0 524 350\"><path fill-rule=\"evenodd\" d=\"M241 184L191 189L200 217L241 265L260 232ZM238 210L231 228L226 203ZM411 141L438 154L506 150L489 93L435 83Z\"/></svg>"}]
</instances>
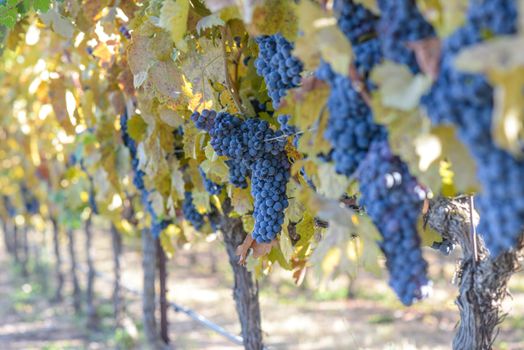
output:
<instances>
[{"instance_id":1,"label":"thick, rough-barked gnarled vine trunk at the right edge","mask_svg":"<svg viewBox=\"0 0 524 350\"><path fill-rule=\"evenodd\" d=\"M509 278L520 266L524 242L515 250L491 259L482 239L472 233L471 221L476 225L478 216L471 213L469 200L469 197L437 198L430 205L426 221L444 239L462 248L456 300L460 323L453 349L489 350L503 317L502 301L508 295Z\"/></svg>"}]
</instances>

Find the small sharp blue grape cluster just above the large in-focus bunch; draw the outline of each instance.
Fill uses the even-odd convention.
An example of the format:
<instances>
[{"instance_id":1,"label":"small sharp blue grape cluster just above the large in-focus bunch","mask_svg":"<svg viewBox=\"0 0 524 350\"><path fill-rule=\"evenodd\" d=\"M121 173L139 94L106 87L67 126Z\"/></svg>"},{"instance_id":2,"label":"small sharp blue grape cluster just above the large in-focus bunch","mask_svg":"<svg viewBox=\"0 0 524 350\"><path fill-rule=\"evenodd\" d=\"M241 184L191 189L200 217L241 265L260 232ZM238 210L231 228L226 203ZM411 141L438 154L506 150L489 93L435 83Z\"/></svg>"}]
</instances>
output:
<instances>
[{"instance_id":1,"label":"small sharp blue grape cluster just above the large in-focus bunch","mask_svg":"<svg viewBox=\"0 0 524 350\"><path fill-rule=\"evenodd\" d=\"M287 90L300 84L303 64L294 57L293 44L282 35L262 35L257 39L259 47L255 67L258 75L264 77L269 97L276 109Z\"/></svg>"}]
</instances>

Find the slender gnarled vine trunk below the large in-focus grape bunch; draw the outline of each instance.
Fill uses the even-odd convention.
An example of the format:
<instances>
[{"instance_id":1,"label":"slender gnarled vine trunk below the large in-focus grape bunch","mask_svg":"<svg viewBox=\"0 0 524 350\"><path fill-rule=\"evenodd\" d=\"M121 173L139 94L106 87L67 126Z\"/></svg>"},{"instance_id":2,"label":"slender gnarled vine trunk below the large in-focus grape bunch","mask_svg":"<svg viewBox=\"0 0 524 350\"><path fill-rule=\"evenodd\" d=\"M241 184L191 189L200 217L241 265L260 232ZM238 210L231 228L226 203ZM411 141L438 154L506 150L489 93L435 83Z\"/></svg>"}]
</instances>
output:
<instances>
[{"instance_id":1,"label":"slender gnarled vine trunk below the large in-focus grape bunch","mask_svg":"<svg viewBox=\"0 0 524 350\"><path fill-rule=\"evenodd\" d=\"M227 205L224 206L224 208L226 207ZM226 212L226 210L224 211ZM235 279L233 298L237 305L236 309L242 328L244 348L261 350L264 348L264 344L258 300L258 282L245 266L238 263L236 254L236 248L242 244L247 233L244 231L240 219L230 218L227 214L221 218L220 226L229 257L229 264L233 269Z\"/></svg>"}]
</instances>

